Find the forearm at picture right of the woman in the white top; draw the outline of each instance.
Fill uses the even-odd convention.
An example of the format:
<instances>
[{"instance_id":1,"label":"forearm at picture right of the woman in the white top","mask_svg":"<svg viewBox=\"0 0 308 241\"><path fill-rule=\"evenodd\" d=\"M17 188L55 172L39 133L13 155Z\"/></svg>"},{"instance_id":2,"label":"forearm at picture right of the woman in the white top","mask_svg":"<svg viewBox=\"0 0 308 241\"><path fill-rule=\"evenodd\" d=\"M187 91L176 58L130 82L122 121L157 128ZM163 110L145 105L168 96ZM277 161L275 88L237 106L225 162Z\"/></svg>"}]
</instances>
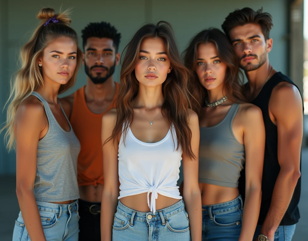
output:
<instances>
[{"instance_id":1,"label":"forearm at picture right of the woman in the white top","mask_svg":"<svg viewBox=\"0 0 308 241\"><path fill-rule=\"evenodd\" d=\"M192 241L201 241L202 236L202 204L201 193L194 192L184 196L185 209L188 214L190 235Z\"/></svg>"}]
</instances>

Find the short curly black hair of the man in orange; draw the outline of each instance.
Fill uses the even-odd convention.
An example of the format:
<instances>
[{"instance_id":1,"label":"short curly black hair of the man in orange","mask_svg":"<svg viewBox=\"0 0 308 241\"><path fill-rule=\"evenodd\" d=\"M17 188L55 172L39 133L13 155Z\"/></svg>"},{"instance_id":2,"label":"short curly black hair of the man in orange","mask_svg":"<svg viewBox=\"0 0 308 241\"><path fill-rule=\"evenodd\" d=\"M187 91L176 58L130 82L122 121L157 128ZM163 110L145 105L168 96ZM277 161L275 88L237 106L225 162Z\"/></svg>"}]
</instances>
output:
<instances>
[{"instance_id":1,"label":"short curly black hair of the man in orange","mask_svg":"<svg viewBox=\"0 0 308 241\"><path fill-rule=\"evenodd\" d=\"M118 33L117 29L107 22L100 23L89 23L87 27L85 27L81 31L82 35L82 46L87 44L87 39L91 37L98 38L108 38L113 40L113 46L115 47L115 52L118 51L121 34Z\"/></svg>"}]
</instances>

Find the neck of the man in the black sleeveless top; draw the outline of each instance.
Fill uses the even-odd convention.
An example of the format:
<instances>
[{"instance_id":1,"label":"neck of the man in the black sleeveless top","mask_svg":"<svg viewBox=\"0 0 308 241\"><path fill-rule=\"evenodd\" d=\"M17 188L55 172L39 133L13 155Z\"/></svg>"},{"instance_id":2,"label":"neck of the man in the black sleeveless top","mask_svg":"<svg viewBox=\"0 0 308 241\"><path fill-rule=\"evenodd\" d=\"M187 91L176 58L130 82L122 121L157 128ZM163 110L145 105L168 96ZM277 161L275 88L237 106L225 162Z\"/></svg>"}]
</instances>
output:
<instances>
[{"instance_id":1,"label":"neck of the man in the black sleeveless top","mask_svg":"<svg viewBox=\"0 0 308 241\"><path fill-rule=\"evenodd\" d=\"M262 64L260 68L245 72L245 75L249 81L250 88L252 88L252 90L261 88L266 82L266 79L269 76L271 69L272 66L270 65L269 59L267 58L266 62ZM273 74L273 72L271 73L271 75Z\"/></svg>"}]
</instances>

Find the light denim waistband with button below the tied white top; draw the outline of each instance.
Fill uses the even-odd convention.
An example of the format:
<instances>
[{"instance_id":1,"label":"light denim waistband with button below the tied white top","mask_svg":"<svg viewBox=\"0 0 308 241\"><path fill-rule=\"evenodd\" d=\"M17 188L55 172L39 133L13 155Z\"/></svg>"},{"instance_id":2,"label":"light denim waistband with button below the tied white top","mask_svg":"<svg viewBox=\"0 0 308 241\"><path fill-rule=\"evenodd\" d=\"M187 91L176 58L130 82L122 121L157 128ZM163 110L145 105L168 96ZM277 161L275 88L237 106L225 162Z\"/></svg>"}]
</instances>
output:
<instances>
[{"instance_id":1,"label":"light denim waistband with button below the tied white top","mask_svg":"<svg viewBox=\"0 0 308 241\"><path fill-rule=\"evenodd\" d=\"M145 212L138 212L138 211L132 210L128 208L127 206L124 206L119 200L116 210L123 216L127 218L131 218L131 220L137 220L137 221L142 221L142 222L152 222L156 220L164 220L164 218L168 218L174 214L177 214L183 211L184 208L185 208L184 202L181 199L179 202L177 202L176 204L173 204L170 207L167 207L161 210L156 210L156 213L153 214L153 212L145 213Z\"/></svg>"}]
</instances>

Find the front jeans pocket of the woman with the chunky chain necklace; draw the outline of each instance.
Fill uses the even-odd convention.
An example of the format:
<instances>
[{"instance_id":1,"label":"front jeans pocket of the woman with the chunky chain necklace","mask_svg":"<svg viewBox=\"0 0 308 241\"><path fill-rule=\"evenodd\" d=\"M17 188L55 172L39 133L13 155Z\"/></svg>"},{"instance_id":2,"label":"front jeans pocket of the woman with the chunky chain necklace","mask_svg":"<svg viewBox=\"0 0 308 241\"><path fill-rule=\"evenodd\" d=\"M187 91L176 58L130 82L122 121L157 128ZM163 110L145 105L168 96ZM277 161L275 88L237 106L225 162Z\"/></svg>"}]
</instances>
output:
<instances>
[{"instance_id":1,"label":"front jeans pocket of the woman with the chunky chain necklace","mask_svg":"<svg viewBox=\"0 0 308 241\"><path fill-rule=\"evenodd\" d=\"M241 224L241 212L235 209L225 213L218 213L213 216L213 222L222 227Z\"/></svg>"}]
</instances>

